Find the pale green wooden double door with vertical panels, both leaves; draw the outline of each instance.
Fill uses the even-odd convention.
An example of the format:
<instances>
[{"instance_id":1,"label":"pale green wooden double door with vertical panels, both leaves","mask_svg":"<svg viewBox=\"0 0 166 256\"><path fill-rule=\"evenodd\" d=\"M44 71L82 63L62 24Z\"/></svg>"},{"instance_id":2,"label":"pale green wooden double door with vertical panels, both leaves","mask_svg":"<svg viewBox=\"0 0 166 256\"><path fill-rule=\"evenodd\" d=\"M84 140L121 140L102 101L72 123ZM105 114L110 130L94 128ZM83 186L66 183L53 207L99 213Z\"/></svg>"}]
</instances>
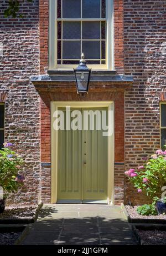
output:
<instances>
[{"instance_id":1,"label":"pale green wooden double door with vertical panels, both leaves","mask_svg":"<svg viewBox=\"0 0 166 256\"><path fill-rule=\"evenodd\" d=\"M84 111L101 113L107 108L74 110L82 113L83 126ZM58 203L107 203L108 141L94 117L94 130L90 130L89 117L87 130L58 131Z\"/></svg>"}]
</instances>

